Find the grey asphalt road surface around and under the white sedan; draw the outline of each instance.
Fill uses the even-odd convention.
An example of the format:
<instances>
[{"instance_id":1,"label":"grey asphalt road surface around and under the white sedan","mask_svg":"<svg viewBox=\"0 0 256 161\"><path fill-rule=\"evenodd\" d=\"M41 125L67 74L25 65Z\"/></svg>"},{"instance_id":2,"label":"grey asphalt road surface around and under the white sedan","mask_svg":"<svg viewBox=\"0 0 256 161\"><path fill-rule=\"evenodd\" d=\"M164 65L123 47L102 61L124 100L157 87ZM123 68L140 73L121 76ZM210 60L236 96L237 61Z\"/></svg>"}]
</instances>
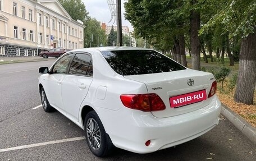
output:
<instances>
[{"instance_id":1,"label":"grey asphalt road surface around and under the white sedan","mask_svg":"<svg viewBox=\"0 0 256 161\"><path fill-rule=\"evenodd\" d=\"M256 145L223 116L207 134L173 148L95 157L81 128L57 111L35 108L38 68L54 60L0 65L0 160L256 160Z\"/></svg>"}]
</instances>

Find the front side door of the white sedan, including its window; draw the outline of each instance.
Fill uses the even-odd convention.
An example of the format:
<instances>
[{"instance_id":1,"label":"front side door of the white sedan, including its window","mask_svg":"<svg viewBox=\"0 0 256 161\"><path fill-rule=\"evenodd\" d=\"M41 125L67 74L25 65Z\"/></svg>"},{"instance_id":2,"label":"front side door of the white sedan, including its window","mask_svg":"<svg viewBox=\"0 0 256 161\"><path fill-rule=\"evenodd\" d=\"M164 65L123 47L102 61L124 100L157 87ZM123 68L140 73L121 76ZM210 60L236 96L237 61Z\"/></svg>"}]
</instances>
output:
<instances>
[{"instance_id":1,"label":"front side door of the white sedan, including its window","mask_svg":"<svg viewBox=\"0 0 256 161\"><path fill-rule=\"evenodd\" d=\"M63 109L61 97L61 84L67 73L73 54L68 54L58 60L48 75L47 98L51 105L57 109Z\"/></svg>"}]
</instances>

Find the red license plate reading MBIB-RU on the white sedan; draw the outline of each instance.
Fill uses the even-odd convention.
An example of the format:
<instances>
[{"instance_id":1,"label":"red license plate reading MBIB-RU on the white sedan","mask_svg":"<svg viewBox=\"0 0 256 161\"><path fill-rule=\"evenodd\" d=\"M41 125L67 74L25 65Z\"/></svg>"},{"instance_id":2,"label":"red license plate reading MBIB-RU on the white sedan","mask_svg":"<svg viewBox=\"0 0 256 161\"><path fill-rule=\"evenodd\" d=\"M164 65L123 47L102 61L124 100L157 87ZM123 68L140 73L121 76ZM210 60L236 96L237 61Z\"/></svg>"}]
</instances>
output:
<instances>
[{"instance_id":1,"label":"red license plate reading MBIB-RU on the white sedan","mask_svg":"<svg viewBox=\"0 0 256 161\"><path fill-rule=\"evenodd\" d=\"M183 105L188 105L188 104L205 100L206 91L205 90L195 91L193 93L172 96L169 99L170 99L171 108L177 108Z\"/></svg>"}]
</instances>

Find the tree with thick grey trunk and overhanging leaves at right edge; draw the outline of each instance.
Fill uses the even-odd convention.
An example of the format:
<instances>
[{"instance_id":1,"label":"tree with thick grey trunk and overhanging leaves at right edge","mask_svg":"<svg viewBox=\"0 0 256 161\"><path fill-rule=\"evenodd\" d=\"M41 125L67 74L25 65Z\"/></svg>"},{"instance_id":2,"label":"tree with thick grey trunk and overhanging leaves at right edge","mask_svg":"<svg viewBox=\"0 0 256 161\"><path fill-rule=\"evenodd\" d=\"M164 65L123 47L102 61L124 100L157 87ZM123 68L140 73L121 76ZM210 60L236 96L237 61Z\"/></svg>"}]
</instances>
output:
<instances>
[{"instance_id":1,"label":"tree with thick grey trunk and overhanging leaves at right edge","mask_svg":"<svg viewBox=\"0 0 256 161\"><path fill-rule=\"evenodd\" d=\"M253 104L256 84L256 1L228 0L205 24L201 33L207 32L215 25L223 25L223 33L229 37L241 35L239 73L234 100L245 104ZM234 41L235 42L235 41ZM234 43L235 44L235 43Z\"/></svg>"}]
</instances>

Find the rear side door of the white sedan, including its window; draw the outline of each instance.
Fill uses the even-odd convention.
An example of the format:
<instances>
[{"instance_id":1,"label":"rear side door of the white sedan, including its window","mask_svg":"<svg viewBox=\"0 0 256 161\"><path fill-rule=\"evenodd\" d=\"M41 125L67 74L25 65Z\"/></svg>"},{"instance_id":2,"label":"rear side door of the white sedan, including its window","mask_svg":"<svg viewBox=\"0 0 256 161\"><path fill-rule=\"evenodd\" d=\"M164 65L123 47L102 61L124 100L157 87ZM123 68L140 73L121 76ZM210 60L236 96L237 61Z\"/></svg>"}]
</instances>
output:
<instances>
[{"instance_id":1,"label":"rear side door of the white sedan, including its window","mask_svg":"<svg viewBox=\"0 0 256 161\"><path fill-rule=\"evenodd\" d=\"M92 56L76 53L68 74L62 81L62 100L65 111L72 121L78 121L80 105L93 80Z\"/></svg>"}]
</instances>

